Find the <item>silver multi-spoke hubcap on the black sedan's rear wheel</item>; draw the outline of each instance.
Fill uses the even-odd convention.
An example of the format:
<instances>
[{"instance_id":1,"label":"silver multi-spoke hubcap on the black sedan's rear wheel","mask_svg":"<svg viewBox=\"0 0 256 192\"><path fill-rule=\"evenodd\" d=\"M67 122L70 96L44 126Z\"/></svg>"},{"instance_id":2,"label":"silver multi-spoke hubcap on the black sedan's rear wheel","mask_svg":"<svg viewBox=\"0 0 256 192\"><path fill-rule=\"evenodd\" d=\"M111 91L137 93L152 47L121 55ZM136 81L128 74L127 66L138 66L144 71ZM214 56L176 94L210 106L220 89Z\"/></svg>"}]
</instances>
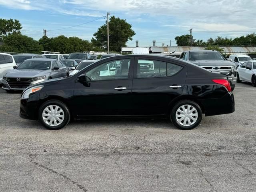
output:
<instances>
[{"instance_id":1,"label":"silver multi-spoke hubcap on the black sedan's rear wheel","mask_svg":"<svg viewBox=\"0 0 256 192\"><path fill-rule=\"evenodd\" d=\"M182 105L176 111L176 120L183 126L190 126L196 122L198 112L191 105Z\"/></svg>"}]
</instances>

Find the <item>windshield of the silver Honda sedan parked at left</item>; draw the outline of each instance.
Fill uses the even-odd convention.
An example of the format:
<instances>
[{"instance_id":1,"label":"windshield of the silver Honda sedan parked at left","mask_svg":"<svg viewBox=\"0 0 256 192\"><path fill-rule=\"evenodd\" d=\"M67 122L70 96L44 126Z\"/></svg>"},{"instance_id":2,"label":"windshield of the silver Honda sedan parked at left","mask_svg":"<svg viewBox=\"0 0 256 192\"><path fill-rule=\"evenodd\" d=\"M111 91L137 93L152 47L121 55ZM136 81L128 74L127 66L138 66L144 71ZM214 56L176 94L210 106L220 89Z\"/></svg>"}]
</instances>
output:
<instances>
[{"instance_id":1,"label":"windshield of the silver Honda sedan parked at left","mask_svg":"<svg viewBox=\"0 0 256 192\"><path fill-rule=\"evenodd\" d=\"M50 61L38 61L38 60L30 60L24 61L20 64L17 69L39 69L39 70L48 70L51 68Z\"/></svg>"}]
</instances>

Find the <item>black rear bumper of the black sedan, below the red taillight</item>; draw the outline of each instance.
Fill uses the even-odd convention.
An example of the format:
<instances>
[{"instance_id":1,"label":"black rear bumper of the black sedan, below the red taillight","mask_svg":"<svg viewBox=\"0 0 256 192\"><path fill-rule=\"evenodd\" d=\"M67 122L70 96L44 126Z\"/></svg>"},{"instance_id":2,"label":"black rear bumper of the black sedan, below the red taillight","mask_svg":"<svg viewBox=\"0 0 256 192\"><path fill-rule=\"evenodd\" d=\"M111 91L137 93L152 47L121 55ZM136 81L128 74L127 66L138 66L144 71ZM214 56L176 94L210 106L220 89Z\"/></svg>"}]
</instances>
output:
<instances>
[{"instance_id":1,"label":"black rear bumper of the black sedan, below the red taillight","mask_svg":"<svg viewBox=\"0 0 256 192\"><path fill-rule=\"evenodd\" d=\"M235 111L233 93L227 93L223 98L201 100L205 109L205 116L228 114Z\"/></svg>"}]
</instances>

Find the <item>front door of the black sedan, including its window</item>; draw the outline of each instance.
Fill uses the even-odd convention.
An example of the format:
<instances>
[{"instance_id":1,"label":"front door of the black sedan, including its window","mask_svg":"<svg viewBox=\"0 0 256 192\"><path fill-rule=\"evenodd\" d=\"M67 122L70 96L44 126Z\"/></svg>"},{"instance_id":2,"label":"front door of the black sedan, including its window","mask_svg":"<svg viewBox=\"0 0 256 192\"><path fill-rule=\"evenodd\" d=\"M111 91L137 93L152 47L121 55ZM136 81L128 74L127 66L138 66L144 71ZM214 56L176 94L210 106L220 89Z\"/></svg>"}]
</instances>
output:
<instances>
[{"instance_id":1,"label":"front door of the black sedan, including its window","mask_svg":"<svg viewBox=\"0 0 256 192\"><path fill-rule=\"evenodd\" d=\"M86 117L131 114L132 64L133 59L128 57L89 68L86 71L87 82L76 82L74 87L75 99L72 107L76 115Z\"/></svg>"}]
</instances>

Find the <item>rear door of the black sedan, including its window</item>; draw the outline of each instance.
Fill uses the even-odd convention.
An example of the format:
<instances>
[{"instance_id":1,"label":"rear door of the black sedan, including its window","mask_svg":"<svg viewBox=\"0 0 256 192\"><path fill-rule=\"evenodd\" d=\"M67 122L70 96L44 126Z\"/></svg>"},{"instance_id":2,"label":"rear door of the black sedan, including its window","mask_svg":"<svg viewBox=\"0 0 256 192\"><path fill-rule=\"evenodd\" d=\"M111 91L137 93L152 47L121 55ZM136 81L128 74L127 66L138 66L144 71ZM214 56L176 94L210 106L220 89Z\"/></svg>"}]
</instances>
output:
<instances>
[{"instance_id":1,"label":"rear door of the black sedan, including its window","mask_svg":"<svg viewBox=\"0 0 256 192\"><path fill-rule=\"evenodd\" d=\"M142 70L142 65L154 64L153 70ZM136 57L132 102L134 115L163 115L168 112L170 102L182 94L187 67L147 57Z\"/></svg>"}]
</instances>

